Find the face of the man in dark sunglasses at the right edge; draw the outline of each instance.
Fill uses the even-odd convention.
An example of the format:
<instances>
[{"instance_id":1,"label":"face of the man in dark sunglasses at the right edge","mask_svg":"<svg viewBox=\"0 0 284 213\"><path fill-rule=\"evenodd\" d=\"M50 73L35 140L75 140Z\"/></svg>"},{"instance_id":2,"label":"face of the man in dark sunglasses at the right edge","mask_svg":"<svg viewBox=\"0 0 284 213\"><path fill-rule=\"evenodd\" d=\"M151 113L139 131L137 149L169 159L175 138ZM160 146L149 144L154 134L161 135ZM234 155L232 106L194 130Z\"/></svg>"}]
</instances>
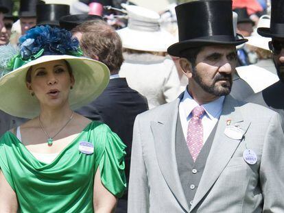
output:
<instances>
[{"instance_id":1,"label":"face of the man in dark sunglasses at the right edge","mask_svg":"<svg viewBox=\"0 0 284 213\"><path fill-rule=\"evenodd\" d=\"M284 38L273 38L270 42L273 62L281 82L284 82Z\"/></svg>"}]
</instances>

